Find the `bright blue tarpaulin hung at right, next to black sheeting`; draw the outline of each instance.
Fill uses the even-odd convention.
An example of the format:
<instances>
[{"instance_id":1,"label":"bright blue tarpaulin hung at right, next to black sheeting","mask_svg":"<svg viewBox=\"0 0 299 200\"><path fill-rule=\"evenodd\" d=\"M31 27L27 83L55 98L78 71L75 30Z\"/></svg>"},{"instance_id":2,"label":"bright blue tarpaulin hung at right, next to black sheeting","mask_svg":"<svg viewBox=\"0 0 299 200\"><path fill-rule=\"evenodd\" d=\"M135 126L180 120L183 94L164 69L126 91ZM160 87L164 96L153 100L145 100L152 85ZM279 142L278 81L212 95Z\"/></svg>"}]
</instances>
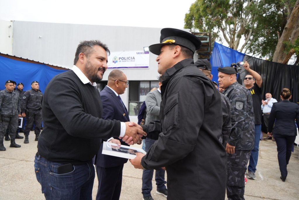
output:
<instances>
[{"instance_id":1,"label":"bright blue tarpaulin hung at right, next to black sheeting","mask_svg":"<svg viewBox=\"0 0 299 200\"><path fill-rule=\"evenodd\" d=\"M210 58L212 65L213 80L218 82L218 67L229 67L231 63L243 61L245 54L234 49L223 46L219 43L214 43L213 53Z\"/></svg>"}]
</instances>

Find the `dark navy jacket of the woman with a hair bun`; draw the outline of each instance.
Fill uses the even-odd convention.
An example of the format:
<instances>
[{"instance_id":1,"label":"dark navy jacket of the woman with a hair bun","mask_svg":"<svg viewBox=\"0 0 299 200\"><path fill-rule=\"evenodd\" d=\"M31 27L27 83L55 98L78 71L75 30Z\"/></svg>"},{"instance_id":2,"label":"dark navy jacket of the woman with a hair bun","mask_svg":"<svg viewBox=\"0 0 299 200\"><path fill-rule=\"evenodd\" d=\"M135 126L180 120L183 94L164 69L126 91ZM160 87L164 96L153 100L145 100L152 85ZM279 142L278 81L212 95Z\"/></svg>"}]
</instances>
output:
<instances>
[{"instance_id":1,"label":"dark navy jacket of the woman with a hair bun","mask_svg":"<svg viewBox=\"0 0 299 200\"><path fill-rule=\"evenodd\" d=\"M268 131L272 132L274 120L276 119L274 126L274 137L276 134L296 136L297 129L295 125L295 119L297 126L299 127L299 105L292 103L289 100L283 100L279 103L274 103L269 116Z\"/></svg>"}]
</instances>

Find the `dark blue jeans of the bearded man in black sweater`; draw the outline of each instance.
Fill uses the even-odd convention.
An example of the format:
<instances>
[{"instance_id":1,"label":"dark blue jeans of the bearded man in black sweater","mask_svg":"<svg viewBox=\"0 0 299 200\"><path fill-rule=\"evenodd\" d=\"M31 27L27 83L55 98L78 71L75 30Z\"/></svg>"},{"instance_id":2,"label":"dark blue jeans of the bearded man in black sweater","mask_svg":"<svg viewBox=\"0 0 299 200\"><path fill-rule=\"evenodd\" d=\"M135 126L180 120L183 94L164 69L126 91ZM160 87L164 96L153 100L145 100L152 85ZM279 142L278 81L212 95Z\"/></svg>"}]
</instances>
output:
<instances>
[{"instance_id":1,"label":"dark blue jeans of the bearded man in black sweater","mask_svg":"<svg viewBox=\"0 0 299 200\"><path fill-rule=\"evenodd\" d=\"M95 176L92 160L83 165L73 165L73 171L65 174L57 174L60 165L63 164L35 156L35 175L45 199L91 200Z\"/></svg>"}]
</instances>

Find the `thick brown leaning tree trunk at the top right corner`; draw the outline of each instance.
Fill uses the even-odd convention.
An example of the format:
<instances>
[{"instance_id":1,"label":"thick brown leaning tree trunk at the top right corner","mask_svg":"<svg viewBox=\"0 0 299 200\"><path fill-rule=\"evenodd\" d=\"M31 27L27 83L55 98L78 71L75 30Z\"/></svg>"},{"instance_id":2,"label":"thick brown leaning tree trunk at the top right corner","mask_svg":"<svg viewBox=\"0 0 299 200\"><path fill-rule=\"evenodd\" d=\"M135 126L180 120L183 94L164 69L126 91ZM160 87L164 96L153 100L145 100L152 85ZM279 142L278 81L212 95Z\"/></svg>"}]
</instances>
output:
<instances>
[{"instance_id":1,"label":"thick brown leaning tree trunk at the top right corner","mask_svg":"<svg viewBox=\"0 0 299 200\"><path fill-rule=\"evenodd\" d=\"M278 40L274 55L273 62L286 64L289 59L287 59L287 54L285 51L284 42L294 43L299 37L299 0L296 1L292 13L283 29L283 33Z\"/></svg>"}]
</instances>

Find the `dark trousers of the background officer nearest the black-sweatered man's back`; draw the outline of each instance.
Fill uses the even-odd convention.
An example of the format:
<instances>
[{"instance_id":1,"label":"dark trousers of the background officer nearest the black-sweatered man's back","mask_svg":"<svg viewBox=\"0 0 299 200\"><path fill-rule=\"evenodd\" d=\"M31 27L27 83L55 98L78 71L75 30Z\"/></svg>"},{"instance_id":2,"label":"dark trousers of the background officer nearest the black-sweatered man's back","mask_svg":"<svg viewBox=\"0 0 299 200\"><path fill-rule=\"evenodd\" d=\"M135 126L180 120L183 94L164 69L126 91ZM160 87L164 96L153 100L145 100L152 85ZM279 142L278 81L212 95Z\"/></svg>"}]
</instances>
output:
<instances>
[{"instance_id":1,"label":"dark trousers of the background officer nearest the black-sweatered man's back","mask_svg":"<svg viewBox=\"0 0 299 200\"><path fill-rule=\"evenodd\" d=\"M34 123L34 133L40 134L40 127L42 126L42 110L39 110L37 113L26 113L26 126L24 129L24 135L28 136L30 129Z\"/></svg>"}]
</instances>

